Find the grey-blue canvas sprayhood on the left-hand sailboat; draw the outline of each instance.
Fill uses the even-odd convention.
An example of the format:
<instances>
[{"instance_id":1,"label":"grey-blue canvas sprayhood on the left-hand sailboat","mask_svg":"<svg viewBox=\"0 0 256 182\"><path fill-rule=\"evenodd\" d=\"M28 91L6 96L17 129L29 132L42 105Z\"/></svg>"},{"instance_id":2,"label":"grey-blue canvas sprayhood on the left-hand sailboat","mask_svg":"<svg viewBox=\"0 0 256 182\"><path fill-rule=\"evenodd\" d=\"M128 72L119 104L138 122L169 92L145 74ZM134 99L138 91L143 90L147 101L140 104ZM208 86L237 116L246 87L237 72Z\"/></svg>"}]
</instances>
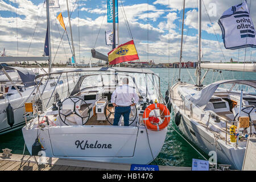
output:
<instances>
[{"instance_id":1,"label":"grey-blue canvas sprayhood on the left-hand sailboat","mask_svg":"<svg viewBox=\"0 0 256 182\"><path fill-rule=\"evenodd\" d=\"M25 87L35 85L35 73L33 71L20 67L5 67L5 69L15 69Z\"/></svg>"}]
</instances>

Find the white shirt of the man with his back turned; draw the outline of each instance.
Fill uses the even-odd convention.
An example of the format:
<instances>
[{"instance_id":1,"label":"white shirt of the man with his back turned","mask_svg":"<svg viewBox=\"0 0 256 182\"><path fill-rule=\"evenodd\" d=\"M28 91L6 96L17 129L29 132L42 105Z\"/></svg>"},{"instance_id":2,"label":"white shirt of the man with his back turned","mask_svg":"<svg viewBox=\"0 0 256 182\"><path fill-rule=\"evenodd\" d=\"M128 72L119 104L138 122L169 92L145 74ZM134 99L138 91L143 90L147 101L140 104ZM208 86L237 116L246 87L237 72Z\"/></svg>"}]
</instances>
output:
<instances>
[{"instance_id":1,"label":"white shirt of the man with his back turned","mask_svg":"<svg viewBox=\"0 0 256 182\"><path fill-rule=\"evenodd\" d=\"M135 89L126 84L118 86L111 96L111 102L118 106L130 106L133 103L137 104L138 101Z\"/></svg>"}]
</instances>

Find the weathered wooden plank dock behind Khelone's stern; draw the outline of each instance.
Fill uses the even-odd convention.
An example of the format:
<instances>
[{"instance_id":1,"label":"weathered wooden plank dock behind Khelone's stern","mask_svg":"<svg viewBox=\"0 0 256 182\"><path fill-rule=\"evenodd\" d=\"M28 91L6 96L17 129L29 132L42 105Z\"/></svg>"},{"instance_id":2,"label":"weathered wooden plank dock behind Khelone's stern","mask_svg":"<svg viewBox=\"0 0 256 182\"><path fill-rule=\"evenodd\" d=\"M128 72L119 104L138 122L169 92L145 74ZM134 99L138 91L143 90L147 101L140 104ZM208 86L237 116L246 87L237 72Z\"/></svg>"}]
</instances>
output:
<instances>
[{"instance_id":1,"label":"weathered wooden plank dock behind Khelone's stern","mask_svg":"<svg viewBox=\"0 0 256 182\"><path fill-rule=\"evenodd\" d=\"M0 153L0 171L130 171L131 164L91 162L44 157L45 164L39 164L39 156ZM42 159L42 158L41 158ZM159 171L191 171L191 167L159 166Z\"/></svg>"}]
</instances>

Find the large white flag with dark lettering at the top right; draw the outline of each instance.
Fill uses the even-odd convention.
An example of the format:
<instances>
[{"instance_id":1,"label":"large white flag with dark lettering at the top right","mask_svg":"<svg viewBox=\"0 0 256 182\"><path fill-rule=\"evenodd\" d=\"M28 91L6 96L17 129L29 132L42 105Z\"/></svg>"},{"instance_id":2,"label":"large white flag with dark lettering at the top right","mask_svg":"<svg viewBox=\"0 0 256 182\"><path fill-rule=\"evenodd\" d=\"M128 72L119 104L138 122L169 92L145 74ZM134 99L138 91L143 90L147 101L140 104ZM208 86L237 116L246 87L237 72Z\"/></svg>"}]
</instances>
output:
<instances>
[{"instance_id":1,"label":"large white flag with dark lettering at the top right","mask_svg":"<svg viewBox=\"0 0 256 182\"><path fill-rule=\"evenodd\" d=\"M256 48L255 28L246 1L226 10L218 24L226 49Z\"/></svg>"}]
</instances>

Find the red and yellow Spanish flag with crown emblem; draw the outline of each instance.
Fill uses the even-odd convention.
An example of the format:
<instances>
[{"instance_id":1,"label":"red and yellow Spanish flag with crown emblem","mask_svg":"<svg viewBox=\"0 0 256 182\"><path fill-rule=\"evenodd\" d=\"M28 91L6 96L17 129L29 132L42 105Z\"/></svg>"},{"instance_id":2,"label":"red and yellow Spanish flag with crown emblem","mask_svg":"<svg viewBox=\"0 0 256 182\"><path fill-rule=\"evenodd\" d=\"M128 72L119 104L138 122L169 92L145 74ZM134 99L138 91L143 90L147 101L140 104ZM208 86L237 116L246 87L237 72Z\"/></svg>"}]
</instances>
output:
<instances>
[{"instance_id":1,"label":"red and yellow Spanish flag with crown emblem","mask_svg":"<svg viewBox=\"0 0 256 182\"><path fill-rule=\"evenodd\" d=\"M139 59L133 40L114 48L108 55L109 64L118 64Z\"/></svg>"}]
</instances>

